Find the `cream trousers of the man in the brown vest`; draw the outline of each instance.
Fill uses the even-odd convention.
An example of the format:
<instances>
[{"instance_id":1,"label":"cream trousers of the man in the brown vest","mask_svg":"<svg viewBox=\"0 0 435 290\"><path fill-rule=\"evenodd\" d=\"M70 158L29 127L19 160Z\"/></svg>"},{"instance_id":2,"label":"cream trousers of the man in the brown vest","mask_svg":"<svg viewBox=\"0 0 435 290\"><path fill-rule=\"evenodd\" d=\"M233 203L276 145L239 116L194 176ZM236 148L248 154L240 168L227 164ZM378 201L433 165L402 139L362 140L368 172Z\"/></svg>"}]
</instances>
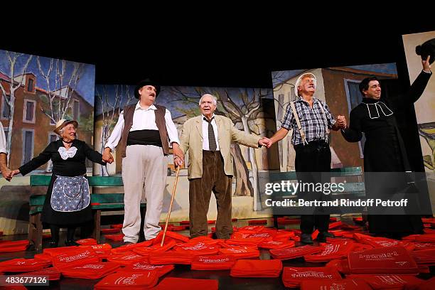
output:
<instances>
[{"instance_id":1,"label":"cream trousers of the man in the brown vest","mask_svg":"<svg viewBox=\"0 0 435 290\"><path fill-rule=\"evenodd\" d=\"M166 186L167 162L163 149L153 145L129 145L122 159L124 183L124 242L139 240L141 198L146 200L144 234L151 240L159 234L163 190Z\"/></svg>"}]
</instances>

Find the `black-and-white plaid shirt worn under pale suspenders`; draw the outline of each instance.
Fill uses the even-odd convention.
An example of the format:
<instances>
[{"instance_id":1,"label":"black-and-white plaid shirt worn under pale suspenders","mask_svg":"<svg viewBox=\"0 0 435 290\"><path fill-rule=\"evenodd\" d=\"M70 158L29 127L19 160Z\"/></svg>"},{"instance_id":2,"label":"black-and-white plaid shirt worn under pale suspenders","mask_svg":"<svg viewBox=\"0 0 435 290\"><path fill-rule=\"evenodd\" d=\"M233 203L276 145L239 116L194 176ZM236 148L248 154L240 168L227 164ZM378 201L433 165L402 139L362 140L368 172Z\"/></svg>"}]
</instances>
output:
<instances>
[{"instance_id":1,"label":"black-and-white plaid shirt worn under pale suspenders","mask_svg":"<svg viewBox=\"0 0 435 290\"><path fill-rule=\"evenodd\" d=\"M299 97L294 102L294 107L296 107L296 112L301 121L301 127L304 130L305 138L308 142L326 139L325 117L323 116L320 106L323 106L323 109L325 110L326 122L328 122L328 128L331 129L336 121L325 102L313 97L313 109L310 108L308 102L302 99L302 97ZM287 107L286 115L284 116L281 127L287 130L293 129L293 136L291 139L293 145L303 143L290 104Z\"/></svg>"}]
</instances>

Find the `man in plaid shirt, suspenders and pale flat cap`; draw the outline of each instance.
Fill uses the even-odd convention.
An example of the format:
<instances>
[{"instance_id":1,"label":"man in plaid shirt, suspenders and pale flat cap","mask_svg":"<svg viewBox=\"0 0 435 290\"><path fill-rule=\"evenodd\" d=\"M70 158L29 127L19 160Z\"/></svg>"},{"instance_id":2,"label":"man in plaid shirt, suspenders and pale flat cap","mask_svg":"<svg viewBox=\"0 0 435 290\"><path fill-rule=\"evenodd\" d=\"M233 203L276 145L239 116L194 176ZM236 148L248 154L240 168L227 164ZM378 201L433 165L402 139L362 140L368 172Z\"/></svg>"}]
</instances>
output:
<instances>
[{"instance_id":1,"label":"man in plaid shirt, suspenders and pale flat cap","mask_svg":"<svg viewBox=\"0 0 435 290\"><path fill-rule=\"evenodd\" d=\"M298 180L308 180L301 173L328 172L331 170L331 150L328 144L329 129L338 131L346 127L344 116L334 119L325 102L314 97L316 92L316 76L304 73L294 86L296 101L290 102L287 107L281 129L276 131L267 145L269 148L276 141L284 139L293 129L292 144L296 151L295 168ZM301 195L300 198L304 198ZM311 234L314 228L319 231L318 242L325 242L326 237L333 237L328 233L329 215L302 215L301 216L301 242L312 243Z\"/></svg>"}]
</instances>

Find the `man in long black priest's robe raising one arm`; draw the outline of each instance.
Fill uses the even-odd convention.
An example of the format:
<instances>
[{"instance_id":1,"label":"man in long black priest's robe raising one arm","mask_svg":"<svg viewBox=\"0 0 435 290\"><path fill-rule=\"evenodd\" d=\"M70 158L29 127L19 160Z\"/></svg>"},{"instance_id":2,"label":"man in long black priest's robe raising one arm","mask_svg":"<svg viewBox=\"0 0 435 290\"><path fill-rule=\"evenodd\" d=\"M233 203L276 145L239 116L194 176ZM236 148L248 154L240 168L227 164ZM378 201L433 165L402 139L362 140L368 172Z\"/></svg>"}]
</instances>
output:
<instances>
[{"instance_id":1,"label":"man in long black priest's robe raising one arm","mask_svg":"<svg viewBox=\"0 0 435 290\"><path fill-rule=\"evenodd\" d=\"M429 57L421 61L423 70L409 91L399 98L402 106L412 106L424 92L431 66ZM410 171L404 141L397 127L396 114L388 100L381 97L380 82L376 77L367 77L360 83L363 101L350 112L350 124L341 132L346 141L358 142L365 133L364 171L365 172L405 172ZM395 107L399 107L395 104ZM395 110L395 109L394 109ZM379 193L381 184L370 183L366 175L367 195ZM382 188L383 189L383 188ZM422 233L423 225L419 215L369 215L369 230L377 235L400 237L412 233Z\"/></svg>"}]
</instances>

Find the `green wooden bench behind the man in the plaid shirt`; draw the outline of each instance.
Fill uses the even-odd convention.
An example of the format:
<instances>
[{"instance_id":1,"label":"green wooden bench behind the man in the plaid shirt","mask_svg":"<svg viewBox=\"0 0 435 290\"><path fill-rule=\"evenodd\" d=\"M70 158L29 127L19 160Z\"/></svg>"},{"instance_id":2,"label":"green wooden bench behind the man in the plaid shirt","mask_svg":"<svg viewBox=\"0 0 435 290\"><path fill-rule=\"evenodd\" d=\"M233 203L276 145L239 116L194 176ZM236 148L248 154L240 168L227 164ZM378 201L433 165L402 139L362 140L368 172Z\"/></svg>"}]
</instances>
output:
<instances>
[{"instance_id":1,"label":"green wooden bench behind the man in the plaid shirt","mask_svg":"<svg viewBox=\"0 0 435 290\"><path fill-rule=\"evenodd\" d=\"M363 168L358 167L343 167L343 168L332 168L331 176L334 178L352 178L355 181L345 182L344 190L341 193L332 193L335 198L355 198L355 196L363 197L365 196L365 186L363 182ZM288 172L276 172L270 173L269 182L281 182L281 181L297 181L296 171ZM296 198L296 195L282 195L286 198ZM278 228L278 217L281 215L274 215L274 227ZM363 214L363 218L365 215Z\"/></svg>"}]
</instances>

